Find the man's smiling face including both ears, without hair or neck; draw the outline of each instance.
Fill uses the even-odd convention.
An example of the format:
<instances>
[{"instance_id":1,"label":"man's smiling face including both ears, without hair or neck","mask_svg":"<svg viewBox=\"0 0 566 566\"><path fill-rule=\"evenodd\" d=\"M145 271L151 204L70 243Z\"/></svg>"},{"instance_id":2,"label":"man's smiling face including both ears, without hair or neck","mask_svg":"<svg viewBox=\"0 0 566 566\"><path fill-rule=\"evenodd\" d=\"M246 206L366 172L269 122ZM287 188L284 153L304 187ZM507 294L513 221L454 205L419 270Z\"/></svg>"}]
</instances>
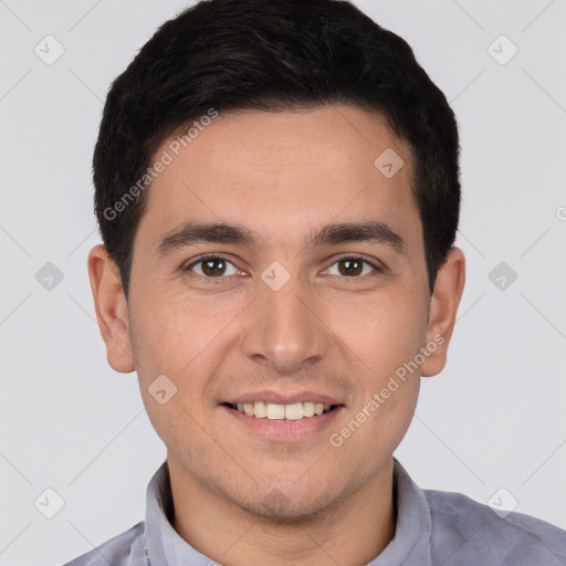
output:
<instances>
[{"instance_id":1,"label":"man's smiling face including both ears, without hair or neck","mask_svg":"<svg viewBox=\"0 0 566 566\"><path fill-rule=\"evenodd\" d=\"M463 259L431 298L412 155L377 114L221 114L170 143L127 310L91 254L108 360L137 370L179 476L258 515L332 507L384 473L443 366Z\"/></svg>"}]
</instances>

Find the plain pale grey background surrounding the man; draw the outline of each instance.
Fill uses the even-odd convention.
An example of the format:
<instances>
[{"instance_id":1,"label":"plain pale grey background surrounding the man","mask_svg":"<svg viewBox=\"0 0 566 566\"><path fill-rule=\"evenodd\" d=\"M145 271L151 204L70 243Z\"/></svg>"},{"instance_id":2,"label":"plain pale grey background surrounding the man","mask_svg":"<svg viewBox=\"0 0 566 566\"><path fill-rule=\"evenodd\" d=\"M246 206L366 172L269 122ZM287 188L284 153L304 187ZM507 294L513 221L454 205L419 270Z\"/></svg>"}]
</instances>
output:
<instances>
[{"instance_id":1,"label":"plain pale grey background surrounding the man","mask_svg":"<svg viewBox=\"0 0 566 566\"><path fill-rule=\"evenodd\" d=\"M496 504L566 528L566 1L357 4L412 45L462 138L467 289L397 457L423 488L484 503L504 488ZM0 1L1 565L60 564L129 528L165 459L95 323L91 158L111 81L186 6ZM56 54L48 34L64 48L51 65L34 52ZM501 34L518 48L505 64Z\"/></svg>"}]
</instances>

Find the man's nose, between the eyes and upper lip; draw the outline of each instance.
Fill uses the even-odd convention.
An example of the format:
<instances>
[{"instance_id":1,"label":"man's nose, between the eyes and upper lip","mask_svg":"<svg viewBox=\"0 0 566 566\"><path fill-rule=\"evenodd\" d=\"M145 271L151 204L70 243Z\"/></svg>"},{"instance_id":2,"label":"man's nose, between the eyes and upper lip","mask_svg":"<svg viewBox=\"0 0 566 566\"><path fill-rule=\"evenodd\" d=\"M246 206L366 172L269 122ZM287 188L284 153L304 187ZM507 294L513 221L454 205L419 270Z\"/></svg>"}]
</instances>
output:
<instances>
[{"instance_id":1,"label":"man's nose, between the eyes and upper lip","mask_svg":"<svg viewBox=\"0 0 566 566\"><path fill-rule=\"evenodd\" d=\"M291 277L279 291L260 282L258 293L242 321L243 354L280 374L321 361L331 340L315 293L298 277Z\"/></svg>"}]
</instances>

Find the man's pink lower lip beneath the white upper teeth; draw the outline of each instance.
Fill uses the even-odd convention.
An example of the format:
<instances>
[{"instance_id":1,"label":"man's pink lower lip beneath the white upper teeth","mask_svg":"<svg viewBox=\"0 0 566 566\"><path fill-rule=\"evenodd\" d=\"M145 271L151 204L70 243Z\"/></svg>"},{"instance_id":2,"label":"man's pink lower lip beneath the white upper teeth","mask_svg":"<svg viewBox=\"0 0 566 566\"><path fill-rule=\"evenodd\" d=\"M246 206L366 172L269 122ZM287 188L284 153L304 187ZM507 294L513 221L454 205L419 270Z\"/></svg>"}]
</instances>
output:
<instances>
[{"instance_id":1,"label":"man's pink lower lip beneath the white upper teeth","mask_svg":"<svg viewBox=\"0 0 566 566\"><path fill-rule=\"evenodd\" d=\"M344 409L340 405L332 411L324 412L323 415L315 415L313 417L303 417L298 420L283 420L283 419L259 419L258 417L250 417L245 412L240 412L231 409L226 405L220 406L221 409L227 411L232 418L237 419L244 427L259 437L274 441L274 442L297 442L312 437L325 428L329 427Z\"/></svg>"}]
</instances>

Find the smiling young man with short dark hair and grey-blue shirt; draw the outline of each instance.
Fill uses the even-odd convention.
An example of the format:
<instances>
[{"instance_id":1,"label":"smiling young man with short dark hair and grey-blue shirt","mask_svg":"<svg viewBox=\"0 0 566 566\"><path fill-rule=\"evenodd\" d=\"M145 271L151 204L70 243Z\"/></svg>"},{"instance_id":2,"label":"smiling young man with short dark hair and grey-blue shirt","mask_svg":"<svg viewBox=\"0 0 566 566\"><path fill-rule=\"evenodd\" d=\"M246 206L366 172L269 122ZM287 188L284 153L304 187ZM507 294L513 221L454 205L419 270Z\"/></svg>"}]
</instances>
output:
<instances>
[{"instance_id":1,"label":"smiling young man with short dark hair and grey-blue shirt","mask_svg":"<svg viewBox=\"0 0 566 566\"><path fill-rule=\"evenodd\" d=\"M113 84L88 258L167 461L78 565L559 565L566 533L394 458L464 285L458 130L348 2L209 0Z\"/></svg>"}]
</instances>

